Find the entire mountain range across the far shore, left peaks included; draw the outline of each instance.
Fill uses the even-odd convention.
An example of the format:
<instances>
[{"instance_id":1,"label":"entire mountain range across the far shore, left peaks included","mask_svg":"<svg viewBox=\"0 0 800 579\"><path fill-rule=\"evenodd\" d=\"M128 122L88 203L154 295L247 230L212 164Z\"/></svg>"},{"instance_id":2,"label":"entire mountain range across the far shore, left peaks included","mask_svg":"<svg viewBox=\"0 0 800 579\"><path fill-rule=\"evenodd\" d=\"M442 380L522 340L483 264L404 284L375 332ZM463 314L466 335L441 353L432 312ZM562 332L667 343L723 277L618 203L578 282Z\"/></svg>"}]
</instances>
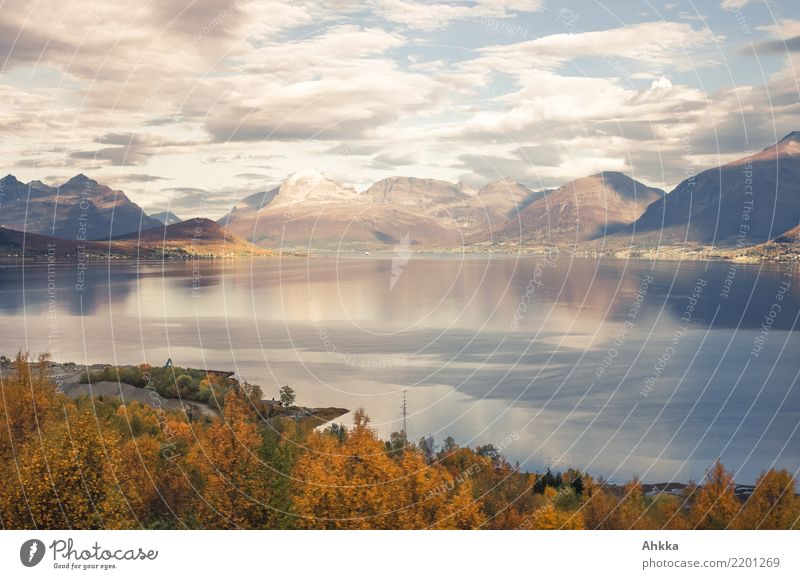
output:
<instances>
[{"instance_id":1,"label":"entire mountain range across the far shore, left peaks included","mask_svg":"<svg viewBox=\"0 0 800 579\"><path fill-rule=\"evenodd\" d=\"M73 240L81 233L88 240L136 237L176 248L194 231L178 226L192 221L172 213L147 216L123 192L85 175L57 187L12 175L0 180L0 226L9 230ZM793 132L763 151L692 175L669 193L608 171L545 191L510 178L474 189L405 176L357 191L319 171L301 171L244 197L217 222L215 235L271 249L559 245L604 251L686 243L736 249L781 236L780 247L794 248L787 240L797 237L799 223L800 132Z\"/></svg>"}]
</instances>

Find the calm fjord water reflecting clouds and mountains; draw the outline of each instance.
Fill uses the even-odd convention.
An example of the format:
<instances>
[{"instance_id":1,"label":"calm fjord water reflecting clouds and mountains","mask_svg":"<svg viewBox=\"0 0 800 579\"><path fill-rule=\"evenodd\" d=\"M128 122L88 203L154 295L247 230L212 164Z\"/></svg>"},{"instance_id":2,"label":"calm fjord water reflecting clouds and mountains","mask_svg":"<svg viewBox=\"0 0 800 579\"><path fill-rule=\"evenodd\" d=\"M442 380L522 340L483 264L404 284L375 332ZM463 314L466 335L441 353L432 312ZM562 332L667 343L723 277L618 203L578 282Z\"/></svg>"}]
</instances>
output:
<instances>
[{"instance_id":1,"label":"calm fjord water reflecting clouds and mountains","mask_svg":"<svg viewBox=\"0 0 800 579\"><path fill-rule=\"evenodd\" d=\"M800 468L793 268L407 258L4 267L0 352L235 369L384 435L407 390L412 438L612 480Z\"/></svg>"}]
</instances>

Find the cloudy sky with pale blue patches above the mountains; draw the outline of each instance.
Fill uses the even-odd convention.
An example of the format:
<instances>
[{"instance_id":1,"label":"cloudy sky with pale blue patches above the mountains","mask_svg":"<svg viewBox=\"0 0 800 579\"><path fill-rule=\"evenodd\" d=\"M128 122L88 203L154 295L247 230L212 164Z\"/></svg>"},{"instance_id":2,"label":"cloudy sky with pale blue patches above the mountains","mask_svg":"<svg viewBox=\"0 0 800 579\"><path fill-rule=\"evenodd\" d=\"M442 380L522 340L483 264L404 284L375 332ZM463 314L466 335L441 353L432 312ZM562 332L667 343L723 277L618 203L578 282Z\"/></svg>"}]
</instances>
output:
<instances>
[{"instance_id":1,"label":"cloudy sky with pale blue patches above the mountains","mask_svg":"<svg viewBox=\"0 0 800 579\"><path fill-rule=\"evenodd\" d=\"M671 189L800 130L797 0L0 0L0 154L221 217L287 175Z\"/></svg>"}]
</instances>

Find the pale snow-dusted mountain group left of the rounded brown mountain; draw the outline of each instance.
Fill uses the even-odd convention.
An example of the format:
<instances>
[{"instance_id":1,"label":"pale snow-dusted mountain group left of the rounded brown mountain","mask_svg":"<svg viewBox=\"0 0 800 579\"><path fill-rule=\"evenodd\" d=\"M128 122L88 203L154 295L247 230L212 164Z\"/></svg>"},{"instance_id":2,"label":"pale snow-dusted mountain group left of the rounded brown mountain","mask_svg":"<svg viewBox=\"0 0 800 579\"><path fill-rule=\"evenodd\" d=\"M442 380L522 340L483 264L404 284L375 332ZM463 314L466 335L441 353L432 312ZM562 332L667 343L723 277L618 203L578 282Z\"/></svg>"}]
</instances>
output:
<instances>
[{"instance_id":1,"label":"pale snow-dusted mountain group left of the rounded brown mountain","mask_svg":"<svg viewBox=\"0 0 800 579\"><path fill-rule=\"evenodd\" d=\"M358 192L312 173L245 197L219 223L269 247L380 248L403 239L420 247L459 246L479 230L498 227L536 195L510 179L476 191L405 176Z\"/></svg>"}]
</instances>

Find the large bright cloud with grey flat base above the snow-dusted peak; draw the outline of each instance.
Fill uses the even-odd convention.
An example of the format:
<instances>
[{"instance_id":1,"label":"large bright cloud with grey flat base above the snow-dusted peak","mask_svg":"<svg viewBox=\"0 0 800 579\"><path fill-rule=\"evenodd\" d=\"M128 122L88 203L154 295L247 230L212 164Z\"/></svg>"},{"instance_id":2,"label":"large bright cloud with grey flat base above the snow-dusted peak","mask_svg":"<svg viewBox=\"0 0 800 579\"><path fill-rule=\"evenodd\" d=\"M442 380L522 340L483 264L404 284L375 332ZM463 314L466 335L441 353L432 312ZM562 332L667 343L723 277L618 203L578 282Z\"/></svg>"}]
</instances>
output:
<instances>
[{"instance_id":1,"label":"large bright cloud with grey flat base above the snow-dusted peak","mask_svg":"<svg viewBox=\"0 0 800 579\"><path fill-rule=\"evenodd\" d=\"M296 43L261 46L242 74L204 83L217 102L206 128L217 142L365 137L435 102L437 81L385 54L404 44L376 28L337 26Z\"/></svg>"}]
</instances>

